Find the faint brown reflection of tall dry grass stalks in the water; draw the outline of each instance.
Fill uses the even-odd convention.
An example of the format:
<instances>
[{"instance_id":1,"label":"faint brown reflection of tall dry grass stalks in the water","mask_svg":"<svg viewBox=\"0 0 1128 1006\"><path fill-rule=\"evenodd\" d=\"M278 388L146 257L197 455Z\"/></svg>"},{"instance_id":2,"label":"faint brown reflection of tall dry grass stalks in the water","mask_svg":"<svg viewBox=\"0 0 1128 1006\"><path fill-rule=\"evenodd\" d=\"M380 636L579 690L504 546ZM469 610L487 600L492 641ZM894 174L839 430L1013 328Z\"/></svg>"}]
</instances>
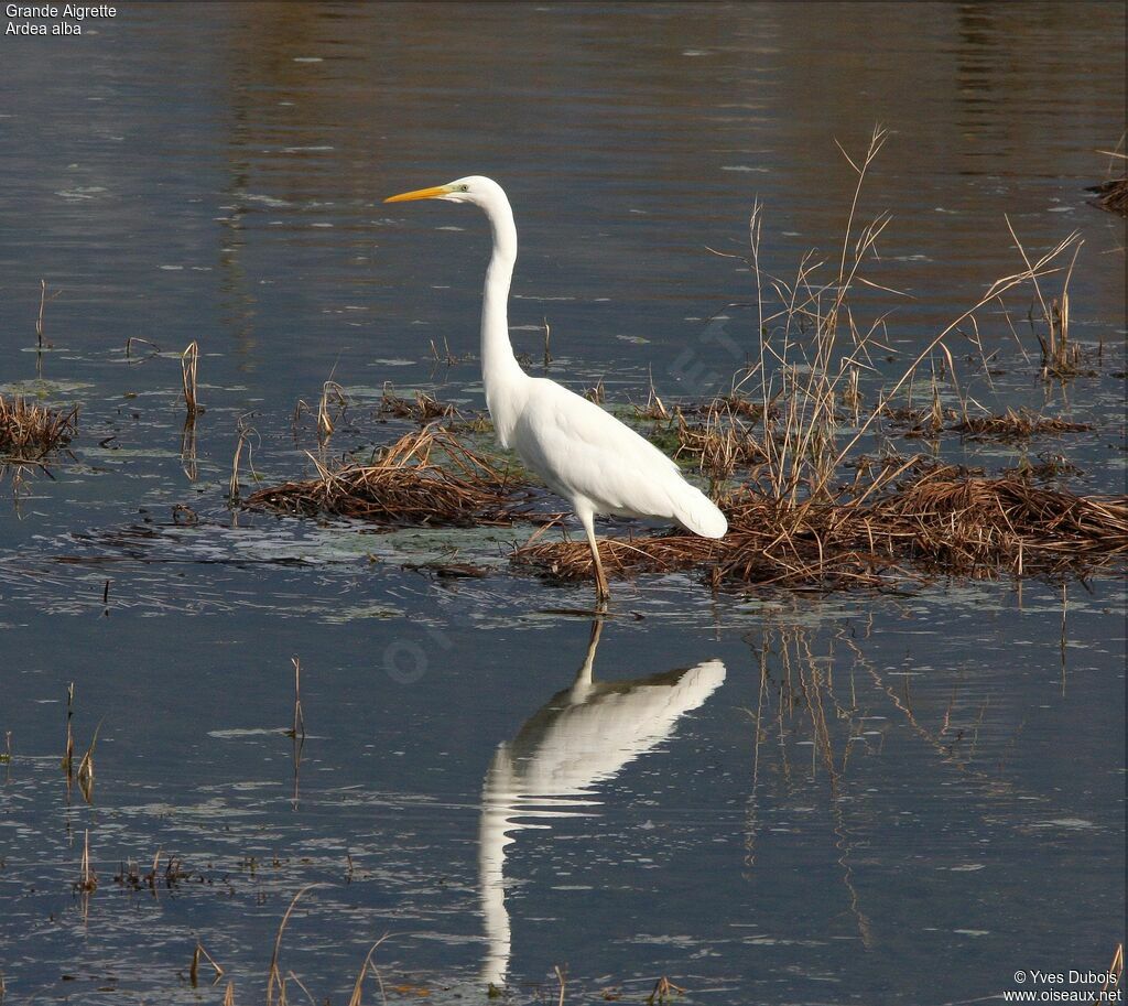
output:
<instances>
[{"instance_id":1,"label":"faint brown reflection of tall dry grass stalks in the water","mask_svg":"<svg viewBox=\"0 0 1128 1006\"><path fill-rule=\"evenodd\" d=\"M988 723L992 696L976 696L973 680L955 676L950 689L929 681L929 697L922 706L914 696L910 677L898 682L866 655L870 627L856 632L856 624L832 630L768 624L756 637L748 637L760 673L756 707L748 713L754 723L751 793L746 815L746 865L760 864L760 805L765 780L772 776L781 791L776 801L820 786L826 796L834 841L839 850L840 880L863 943L873 945L874 934L863 910L865 891L858 890L852 867L856 830L853 815L866 815L862 803L870 792L860 759L881 758L898 723L908 729L900 736L927 756L933 773L914 778L915 800L928 795L929 786L948 786L950 773L978 794L973 813L985 822L990 815L980 809L987 800L997 811L999 801L1013 801L1020 813L1043 806L1047 796L1024 792L1004 777L1004 766L1025 726L1023 717L1013 730ZM871 687L866 687L866 686ZM878 726L876 724L880 724ZM994 731L990 727L994 726ZM994 733L995 736L990 736ZM984 738L987 736L985 742ZM795 749L810 744L810 760L796 761ZM802 747L799 747L802 750ZM775 758L772 759L772 754ZM902 756L889 756L902 757ZM937 777L929 783L928 776ZM941 791L943 792L943 791ZM867 821L872 827L872 821ZM1060 826L1060 821L1054 822ZM979 864L950 867L975 872Z\"/></svg>"}]
</instances>

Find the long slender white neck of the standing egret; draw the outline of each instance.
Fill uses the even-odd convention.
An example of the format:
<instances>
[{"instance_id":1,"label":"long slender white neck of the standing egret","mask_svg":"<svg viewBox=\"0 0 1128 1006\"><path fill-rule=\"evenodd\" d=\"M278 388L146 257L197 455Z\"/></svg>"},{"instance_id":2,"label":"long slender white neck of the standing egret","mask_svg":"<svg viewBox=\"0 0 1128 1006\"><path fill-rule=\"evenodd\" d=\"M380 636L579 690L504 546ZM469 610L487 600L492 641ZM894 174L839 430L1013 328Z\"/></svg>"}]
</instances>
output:
<instances>
[{"instance_id":1,"label":"long slender white neck of the standing egret","mask_svg":"<svg viewBox=\"0 0 1128 1006\"><path fill-rule=\"evenodd\" d=\"M487 206L486 213L493 228L493 256L482 297L482 380L494 427L508 447L527 380L509 341L509 286L517 262L517 227L504 197Z\"/></svg>"}]
</instances>

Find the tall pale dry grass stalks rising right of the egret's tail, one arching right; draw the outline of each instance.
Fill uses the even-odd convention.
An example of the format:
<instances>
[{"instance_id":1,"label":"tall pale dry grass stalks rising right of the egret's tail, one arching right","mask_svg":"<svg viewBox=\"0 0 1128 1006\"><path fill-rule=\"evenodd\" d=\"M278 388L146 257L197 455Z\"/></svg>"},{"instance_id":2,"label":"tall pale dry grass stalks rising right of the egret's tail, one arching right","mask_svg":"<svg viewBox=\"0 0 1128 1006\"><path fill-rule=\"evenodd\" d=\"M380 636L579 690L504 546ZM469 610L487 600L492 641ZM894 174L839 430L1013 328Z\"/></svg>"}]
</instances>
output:
<instances>
[{"instance_id":1,"label":"tall pale dry grass stalks rising right of the egret's tail, one arching right","mask_svg":"<svg viewBox=\"0 0 1128 1006\"><path fill-rule=\"evenodd\" d=\"M1068 339L1068 281L1081 238L1072 233L1041 257L1032 259L1015 237L1025 267L996 280L972 307L927 341L892 387L880 394L869 409L862 407L861 374L876 370L871 361L874 352L889 354L891 350L885 339L887 316L863 321L855 303L856 294L863 289L876 289L887 294L906 295L865 275L869 264L878 261L878 241L892 219L889 213L880 212L867 222L858 222L866 177L885 139L887 132L875 129L862 158L852 157L839 147L856 178L841 246L836 255L836 274L829 282L821 277L825 263L813 252L802 257L790 282L765 271L760 254L763 205L758 201L749 220L748 253L725 255L748 266L755 283L758 320L759 359L746 368L733 394L758 380L761 404L757 417L761 426L758 439L766 455L759 475L772 496L792 506L804 502L822 503L832 496L831 485L843 462L867 435L878 417L888 413L901 390L908 387L911 391L920 368L933 362L936 365L933 367L932 415L925 425L927 427L931 422L934 431L942 429L946 413L940 400L937 371L959 391L946 339L963 327L977 329L977 312L1015 286L1028 282L1034 286L1050 330L1046 353L1057 361L1054 365L1064 371L1074 360L1070 355L1073 343ZM1042 295L1040 283L1046 276L1063 271L1057 262L1070 252L1061 293L1051 305ZM960 414L966 415L963 396L960 400ZM840 404L852 413L854 429L846 436L840 430Z\"/></svg>"}]
</instances>

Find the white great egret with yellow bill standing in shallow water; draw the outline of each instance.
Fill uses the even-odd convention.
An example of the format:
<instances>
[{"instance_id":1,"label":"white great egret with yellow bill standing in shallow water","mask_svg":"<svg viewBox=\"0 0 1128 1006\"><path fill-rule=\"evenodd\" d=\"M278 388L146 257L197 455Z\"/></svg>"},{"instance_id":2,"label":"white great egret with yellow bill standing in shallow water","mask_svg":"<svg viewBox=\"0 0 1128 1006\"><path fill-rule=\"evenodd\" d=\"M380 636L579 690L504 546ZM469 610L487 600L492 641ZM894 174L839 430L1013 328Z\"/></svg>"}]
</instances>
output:
<instances>
[{"instance_id":1,"label":"white great egret with yellow bill standing in shallow water","mask_svg":"<svg viewBox=\"0 0 1128 1006\"><path fill-rule=\"evenodd\" d=\"M600 607L610 592L599 558L597 513L666 518L705 538L723 538L729 522L678 466L650 441L598 405L547 378L529 377L509 341L509 285L517 261L517 227L505 191L472 175L448 185L386 198L473 203L493 229L493 255L482 298L482 380L502 447L512 447L545 484L572 504L591 546Z\"/></svg>"}]
</instances>

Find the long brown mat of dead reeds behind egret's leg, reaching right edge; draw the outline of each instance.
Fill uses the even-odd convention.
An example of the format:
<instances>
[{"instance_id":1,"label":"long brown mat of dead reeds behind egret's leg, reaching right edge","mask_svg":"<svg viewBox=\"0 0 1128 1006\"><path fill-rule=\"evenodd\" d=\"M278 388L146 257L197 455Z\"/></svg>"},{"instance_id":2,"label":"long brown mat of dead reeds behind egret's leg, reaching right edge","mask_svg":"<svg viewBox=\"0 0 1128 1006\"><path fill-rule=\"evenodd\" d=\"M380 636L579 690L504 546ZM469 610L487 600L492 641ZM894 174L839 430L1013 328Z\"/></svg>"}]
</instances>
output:
<instances>
[{"instance_id":1,"label":"long brown mat of dead reeds behind egret's leg, reaching right edge","mask_svg":"<svg viewBox=\"0 0 1128 1006\"><path fill-rule=\"evenodd\" d=\"M743 489L724 504L729 533L605 539L609 575L703 572L714 585L836 589L931 575L1084 574L1128 557L1128 497L1077 496L1017 475L987 477L909 462L866 498L793 505ZM592 575L585 541L519 549L513 561L559 580Z\"/></svg>"}]
</instances>

